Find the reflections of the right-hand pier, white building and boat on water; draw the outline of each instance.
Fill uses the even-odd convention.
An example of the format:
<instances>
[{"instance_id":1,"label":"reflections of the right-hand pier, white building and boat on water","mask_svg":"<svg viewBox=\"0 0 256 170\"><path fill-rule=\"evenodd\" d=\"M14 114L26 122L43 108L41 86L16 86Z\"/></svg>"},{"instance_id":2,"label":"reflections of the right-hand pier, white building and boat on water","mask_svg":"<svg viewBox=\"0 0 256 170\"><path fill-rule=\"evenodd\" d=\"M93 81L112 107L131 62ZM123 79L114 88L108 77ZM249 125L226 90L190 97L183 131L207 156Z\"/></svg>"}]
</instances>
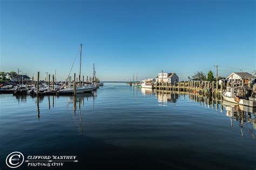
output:
<instances>
[{"instance_id":1,"label":"reflections of the right-hand pier, white building and boat on water","mask_svg":"<svg viewBox=\"0 0 256 170\"><path fill-rule=\"evenodd\" d=\"M178 99L185 99L187 96L188 101L198 103L201 106L212 108L216 111L220 111L225 114L227 117L230 117L230 126L233 128L233 121L239 121L241 135L243 135L242 130L247 129L250 131L250 134L255 139L255 130L256 130L256 120L255 113L256 108L236 105L228 101L223 100L221 97L212 97L212 96L203 96L200 94L188 93L188 92L171 92L171 91L157 91L156 98L159 103L176 103ZM248 124L252 127L248 127Z\"/></svg>"}]
</instances>

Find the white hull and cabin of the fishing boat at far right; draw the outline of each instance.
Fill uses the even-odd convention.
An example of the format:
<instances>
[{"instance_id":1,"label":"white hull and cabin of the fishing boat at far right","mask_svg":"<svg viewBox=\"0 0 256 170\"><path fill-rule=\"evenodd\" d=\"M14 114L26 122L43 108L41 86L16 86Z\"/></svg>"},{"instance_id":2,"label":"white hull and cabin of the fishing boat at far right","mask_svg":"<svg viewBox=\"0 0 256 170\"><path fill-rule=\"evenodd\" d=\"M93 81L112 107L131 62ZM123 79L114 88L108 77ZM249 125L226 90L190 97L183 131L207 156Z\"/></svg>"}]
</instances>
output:
<instances>
[{"instance_id":1,"label":"white hull and cabin of the fishing boat at far right","mask_svg":"<svg viewBox=\"0 0 256 170\"><path fill-rule=\"evenodd\" d=\"M239 105L256 107L255 97L241 98L239 97L238 91L239 87L227 87L226 91L222 94L223 99Z\"/></svg>"}]
</instances>

